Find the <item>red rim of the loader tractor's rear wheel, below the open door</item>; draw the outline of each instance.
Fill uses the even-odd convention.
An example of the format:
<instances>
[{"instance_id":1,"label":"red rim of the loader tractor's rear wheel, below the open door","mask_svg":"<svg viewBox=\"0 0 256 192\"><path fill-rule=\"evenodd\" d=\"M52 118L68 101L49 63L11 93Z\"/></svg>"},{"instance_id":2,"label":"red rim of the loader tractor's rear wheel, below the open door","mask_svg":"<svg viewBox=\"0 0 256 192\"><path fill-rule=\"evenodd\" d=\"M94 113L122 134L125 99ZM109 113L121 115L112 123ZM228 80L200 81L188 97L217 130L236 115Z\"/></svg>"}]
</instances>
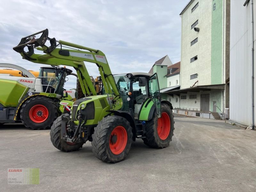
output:
<instances>
[{"instance_id":1,"label":"red rim of the loader tractor's rear wheel, below the open door","mask_svg":"<svg viewBox=\"0 0 256 192\"><path fill-rule=\"evenodd\" d=\"M171 121L169 115L165 112L162 113L162 117L157 120L157 133L161 140L165 140L171 130Z\"/></svg>"}]
</instances>

